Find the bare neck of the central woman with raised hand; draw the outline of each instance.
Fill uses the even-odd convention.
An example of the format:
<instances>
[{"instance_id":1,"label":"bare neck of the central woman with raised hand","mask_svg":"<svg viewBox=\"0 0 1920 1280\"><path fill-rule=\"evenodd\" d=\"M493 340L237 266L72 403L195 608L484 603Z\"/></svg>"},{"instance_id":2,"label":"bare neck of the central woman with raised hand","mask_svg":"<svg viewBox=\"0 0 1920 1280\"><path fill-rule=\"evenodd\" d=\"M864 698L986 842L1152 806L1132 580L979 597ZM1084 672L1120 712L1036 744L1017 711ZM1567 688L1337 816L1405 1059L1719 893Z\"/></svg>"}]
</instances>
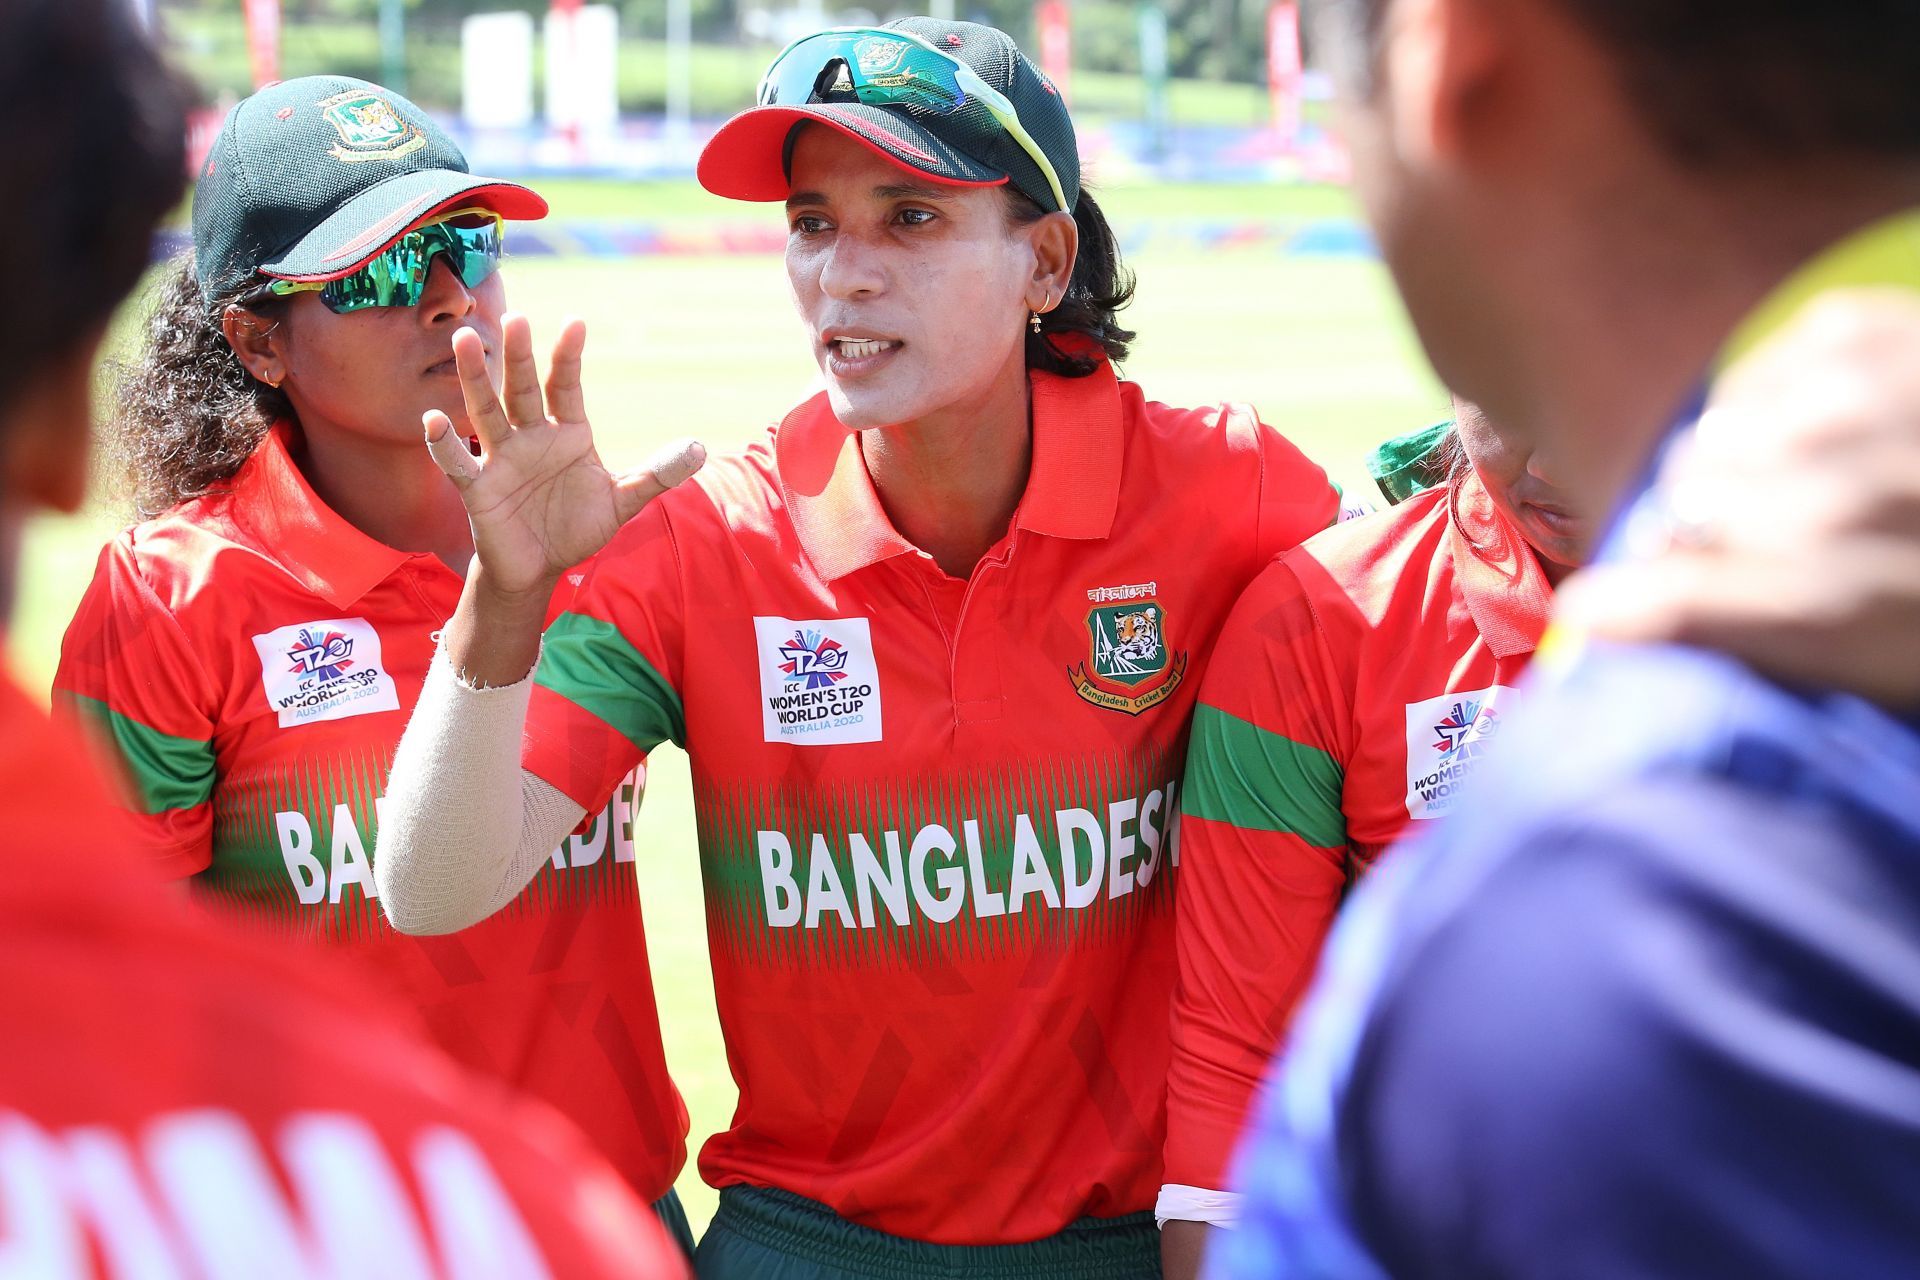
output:
<instances>
[{"instance_id":1,"label":"bare neck of the central woman with raised hand","mask_svg":"<svg viewBox=\"0 0 1920 1280\"><path fill-rule=\"evenodd\" d=\"M860 432L887 518L952 578L1006 535L1027 491L1033 428L1023 349L979 397L918 422Z\"/></svg>"}]
</instances>

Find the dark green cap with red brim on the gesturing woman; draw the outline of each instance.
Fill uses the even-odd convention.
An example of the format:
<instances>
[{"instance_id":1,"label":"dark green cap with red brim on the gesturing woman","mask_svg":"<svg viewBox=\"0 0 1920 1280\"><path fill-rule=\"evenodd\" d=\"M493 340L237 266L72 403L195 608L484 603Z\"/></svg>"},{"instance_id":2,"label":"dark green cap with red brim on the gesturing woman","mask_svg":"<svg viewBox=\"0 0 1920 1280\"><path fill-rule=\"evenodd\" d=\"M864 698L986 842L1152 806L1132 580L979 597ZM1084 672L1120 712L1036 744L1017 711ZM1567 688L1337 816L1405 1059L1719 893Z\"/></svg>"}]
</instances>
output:
<instances>
[{"instance_id":1,"label":"dark green cap with red brim on the gesturing woman","mask_svg":"<svg viewBox=\"0 0 1920 1280\"><path fill-rule=\"evenodd\" d=\"M1020 117L1027 136L1039 146L1060 178L1066 211L1079 200L1079 148L1073 119L1060 92L1012 36L979 23L950 23L933 17L902 17L874 29L908 33L970 67L998 90ZM797 42L789 54L801 50ZM849 61L866 52L849 48ZM883 54L879 54L883 58ZM826 67L818 67L824 71ZM872 67L870 67L872 69ZM776 61L774 73L780 71ZM881 69L885 71L885 69ZM912 104L876 106L860 102L851 86L835 86L822 77L810 100L780 100L741 111L712 136L701 152L701 186L730 200L785 200L793 159L793 134L816 123L874 148L895 165L954 186L1012 184L1041 209L1062 207L1046 173L1033 155L981 104L956 111L929 111Z\"/></svg>"}]
</instances>

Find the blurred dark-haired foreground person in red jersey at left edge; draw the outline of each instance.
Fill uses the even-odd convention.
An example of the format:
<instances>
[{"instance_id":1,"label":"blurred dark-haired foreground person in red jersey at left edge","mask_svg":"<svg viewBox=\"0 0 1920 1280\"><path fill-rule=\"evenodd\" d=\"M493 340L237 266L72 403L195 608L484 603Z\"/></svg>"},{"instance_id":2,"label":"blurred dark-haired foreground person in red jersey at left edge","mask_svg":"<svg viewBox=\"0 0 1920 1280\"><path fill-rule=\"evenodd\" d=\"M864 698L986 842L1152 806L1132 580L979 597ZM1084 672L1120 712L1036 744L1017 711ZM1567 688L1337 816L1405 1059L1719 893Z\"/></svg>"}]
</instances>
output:
<instances>
[{"instance_id":1,"label":"blurred dark-haired foreground person in red jersey at left edge","mask_svg":"<svg viewBox=\"0 0 1920 1280\"><path fill-rule=\"evenodd\" d=\"M0 524L73 510L113 305L180 190L177 86L117 0L0 8ZM138 643L138 641L134 641ZM83 747L0 681L0 1270L31 1276L678 1276L551 1113L125 852Z\"/></svg>"}]
</instances>

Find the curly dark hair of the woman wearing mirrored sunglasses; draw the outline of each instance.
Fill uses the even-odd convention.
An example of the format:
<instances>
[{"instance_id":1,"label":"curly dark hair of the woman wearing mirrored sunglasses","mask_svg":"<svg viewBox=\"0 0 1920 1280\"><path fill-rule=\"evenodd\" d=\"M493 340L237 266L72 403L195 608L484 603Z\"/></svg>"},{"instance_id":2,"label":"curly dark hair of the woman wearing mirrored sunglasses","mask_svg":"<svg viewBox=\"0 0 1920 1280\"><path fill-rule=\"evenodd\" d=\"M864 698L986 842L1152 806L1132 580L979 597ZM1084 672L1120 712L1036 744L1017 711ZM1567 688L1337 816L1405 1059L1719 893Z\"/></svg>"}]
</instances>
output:
<instances>
[{"instance_id":1,"label":"curly dark hair of the woman wearing mirrored sunglasses","mask_svg":"<svg viewBox=\"0 0 1920 1280\"><path fill-rule=\"evenodd\" d=\"M167 265L154 290L146 344L119 368L117 413L108 436L113 470L142 518L200 497L232 478L267 428L290 418L286 393L259 382L227 345L221 317L250 286L200 296L192 251ZM275 322L284 299L250 301Z\"/></svg>"}]
</instances>

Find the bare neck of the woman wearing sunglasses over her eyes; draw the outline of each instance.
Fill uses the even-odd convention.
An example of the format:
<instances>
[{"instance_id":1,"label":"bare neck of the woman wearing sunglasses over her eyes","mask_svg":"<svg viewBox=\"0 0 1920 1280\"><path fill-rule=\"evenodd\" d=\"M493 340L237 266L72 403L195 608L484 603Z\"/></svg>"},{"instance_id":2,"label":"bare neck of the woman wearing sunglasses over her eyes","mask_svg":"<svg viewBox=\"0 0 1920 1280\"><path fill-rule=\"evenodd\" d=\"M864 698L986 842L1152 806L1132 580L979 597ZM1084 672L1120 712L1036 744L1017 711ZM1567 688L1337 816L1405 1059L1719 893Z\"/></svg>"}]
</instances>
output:
<instances>
[{"instance_id":1,"label":"bare neck of the woman wearing sunglasses over her eyes","mask_svg":"<svg viewBox=\"0 0 1920 1280\"><path fill-rule=\"evenodd\" d=\"M472 526L459 491L424 445L369 441L340 430L301 430L300 472L334 514L397 551L440 557L467 576Z\"/></svg>"}]
</instances>

